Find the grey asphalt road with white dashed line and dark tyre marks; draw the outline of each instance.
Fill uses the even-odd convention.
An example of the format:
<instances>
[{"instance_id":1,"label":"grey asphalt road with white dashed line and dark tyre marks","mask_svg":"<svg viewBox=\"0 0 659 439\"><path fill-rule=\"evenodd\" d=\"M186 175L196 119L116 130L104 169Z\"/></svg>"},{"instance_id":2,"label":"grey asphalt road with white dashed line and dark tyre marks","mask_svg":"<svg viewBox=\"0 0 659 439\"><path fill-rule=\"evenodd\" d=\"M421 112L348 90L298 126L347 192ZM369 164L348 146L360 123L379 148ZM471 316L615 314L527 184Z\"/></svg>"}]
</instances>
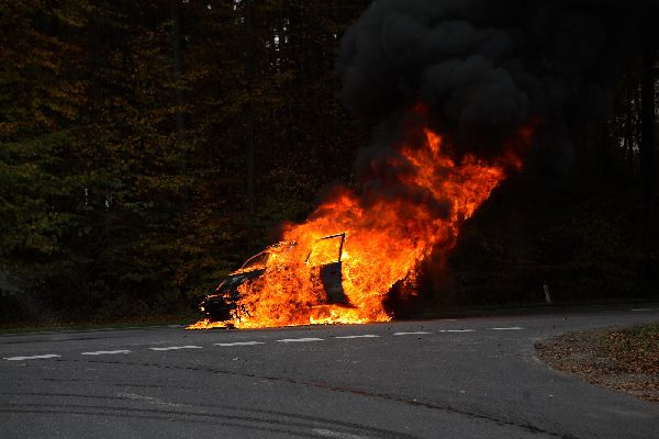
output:
<instances>
[{"instance_id":1,"label":"grey asphalt road with white dashed line and dark tyre marks","mask_svg":"<svg viewBox=\"0 0 659 439\"><path fill-rule=\"evenodd\" d=\"M659 308L0 337L1 438L659 438L659 404L534 344Z\"/></svg>"}]
</instances>

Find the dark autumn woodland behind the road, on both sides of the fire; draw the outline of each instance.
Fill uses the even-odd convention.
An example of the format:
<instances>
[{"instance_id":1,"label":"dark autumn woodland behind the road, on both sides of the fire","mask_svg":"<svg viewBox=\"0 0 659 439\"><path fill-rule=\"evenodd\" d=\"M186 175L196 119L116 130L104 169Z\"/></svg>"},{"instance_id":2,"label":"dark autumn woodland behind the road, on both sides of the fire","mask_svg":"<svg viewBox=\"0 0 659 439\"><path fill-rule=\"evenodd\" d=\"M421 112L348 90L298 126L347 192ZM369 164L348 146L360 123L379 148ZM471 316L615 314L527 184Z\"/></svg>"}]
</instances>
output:
<instances>
[{"instance_id":1,"label":"dark autumn woodland behind the road, on both sides of the fire","mask_svg":"<svg viewBox=\"0 0 659 439\"><path fill-rule=\"evenodd\" d=\"M179 314L303 221L375 121L337 94L368 1L0 1L0 319ZM656 47L551 184L533 164L465 229L434 307L657 294ZM541 173L541 172L540 172Z\"/></svg>"}]
</instances>

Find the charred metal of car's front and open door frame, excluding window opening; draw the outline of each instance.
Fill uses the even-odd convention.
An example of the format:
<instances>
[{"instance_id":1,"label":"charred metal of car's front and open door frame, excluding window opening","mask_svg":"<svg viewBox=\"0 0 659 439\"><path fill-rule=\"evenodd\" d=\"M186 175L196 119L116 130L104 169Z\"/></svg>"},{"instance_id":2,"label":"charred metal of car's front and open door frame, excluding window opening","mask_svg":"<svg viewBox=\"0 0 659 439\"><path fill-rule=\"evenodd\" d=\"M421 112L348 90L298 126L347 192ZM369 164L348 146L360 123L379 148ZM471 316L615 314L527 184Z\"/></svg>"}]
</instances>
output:
<instances>
[{"instance_id":1,"label":"charred metal of car's front and open door frame, excluding window opening","mask_svg":"<svg viewBox=\"0 0 659 439\"><path fill-rule=\"evenodd\" d=\"M304 260L304 263L312 267L312 275L317 275L322 283L325 293L322 305L350 306L343 289L342 257L345 239L345 233L316 239L314 244L336 246L335 257L331 260L314 261L315 245L313 245ZM261 278L272 255L287 254L297 246L295 241L278 243L247 259L239 269L230 273L205 295L200 305L205 318L210 322L225 322L244 313L245 311L239 308L242 297L239 286Z\"/></svg>"}]
</instances>

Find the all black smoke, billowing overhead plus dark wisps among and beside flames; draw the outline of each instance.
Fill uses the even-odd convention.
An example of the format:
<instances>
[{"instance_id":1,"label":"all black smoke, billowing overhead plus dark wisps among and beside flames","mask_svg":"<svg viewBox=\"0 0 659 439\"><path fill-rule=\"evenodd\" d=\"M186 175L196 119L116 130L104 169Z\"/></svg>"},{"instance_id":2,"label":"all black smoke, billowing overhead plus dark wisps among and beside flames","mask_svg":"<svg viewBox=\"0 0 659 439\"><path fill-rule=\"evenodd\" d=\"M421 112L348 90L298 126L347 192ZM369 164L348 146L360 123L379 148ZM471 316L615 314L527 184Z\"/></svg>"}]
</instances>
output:
<instances>
[{"instance_id":1,"label":"all black smoke, billowing overhead plus dark wisps among and beside flames","mask_svg":"<svg viewBox=\"0 0 659 439\"><path fill-rule=\"evenodd\" d=\"M535 184L527 187L559 185L588 122L613 108L616 63L648 42L659 47L658 12L659 0L373 1L344 35L337 60L345 106L377 124L355 167L361 202L405 198L435 206L437 216L449 212L447 200L401 178L409 170L396 145L413 145L417 124L442 133L458 159L499 156L533 124L525 181ZM411 111L418 108L427 111ZM424 261L422 295L442 289L447 256L438 246ZM420 305L404 284L387 301L394 315Z\"/></svg>"}]
</instances>

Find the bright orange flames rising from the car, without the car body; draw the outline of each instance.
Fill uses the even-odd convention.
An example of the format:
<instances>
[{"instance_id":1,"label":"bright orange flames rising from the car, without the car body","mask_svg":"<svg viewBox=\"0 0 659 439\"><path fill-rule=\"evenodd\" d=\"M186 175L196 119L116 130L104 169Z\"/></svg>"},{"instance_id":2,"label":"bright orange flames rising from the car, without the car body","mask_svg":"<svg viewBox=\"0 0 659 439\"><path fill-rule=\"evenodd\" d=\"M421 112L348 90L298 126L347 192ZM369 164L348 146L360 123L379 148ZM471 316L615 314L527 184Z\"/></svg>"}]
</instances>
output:
<instances>
[{"instance_id":1,"label":"bright orange flames rising from the car, without the car body","mask_svg":"<svg viewBox=\"0 0 659 439\"><path fill-rule=\"evenodd\" d=\"M242 299L234 318L225 323L201 320L190 328L390 320L383 302L392 286L400 281L413 283L421 262L437 246L451 249L460 223L490 196L507 169L522 167L514 147L491 162L472 155L458 162L444 150L440 135L427 128L424 134L421 147L399 148L405 172L398 177L421 193L422 200L368 200L342 189L305 223L286 227L283 239L297 245L270 255L264 275L238 288ZM528 144L532 134L530 128L521 130L520 142L514 144ZM437 214L437 201L444 214ZM431 207L433 203L435 207ZM338 256L336 243L319 239L337 233L345 233L342 279L351 306L326 304L317 274L320 264ZM308 256L310 251L312 256Z\"/></svg>"}]
</instances>

